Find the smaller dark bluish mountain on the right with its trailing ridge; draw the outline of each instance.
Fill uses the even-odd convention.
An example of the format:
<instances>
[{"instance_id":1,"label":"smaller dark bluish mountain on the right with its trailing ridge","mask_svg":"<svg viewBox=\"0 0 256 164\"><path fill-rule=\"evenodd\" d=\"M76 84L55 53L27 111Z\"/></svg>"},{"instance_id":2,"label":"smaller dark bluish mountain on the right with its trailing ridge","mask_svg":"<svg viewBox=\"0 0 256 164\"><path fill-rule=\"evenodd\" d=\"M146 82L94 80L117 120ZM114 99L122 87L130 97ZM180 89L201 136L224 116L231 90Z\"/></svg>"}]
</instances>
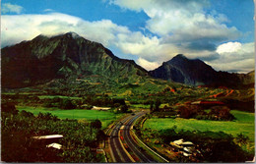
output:
<instances>
[{"instance_id":1,"label":"smaller dark bluish mountain on the right with its trailing ridge","mask_svg":"<svg viewBox=\"0 0 256 164\"><path fill-rule=\"evenodd\" d=\"M159 68L150 71L150 75L157 79L190 85L238 86L254 82L254 78L249 78L248 75L217 72L203 61L188 59L182 54L163 62Z\"/></svg>"}]
</instances>

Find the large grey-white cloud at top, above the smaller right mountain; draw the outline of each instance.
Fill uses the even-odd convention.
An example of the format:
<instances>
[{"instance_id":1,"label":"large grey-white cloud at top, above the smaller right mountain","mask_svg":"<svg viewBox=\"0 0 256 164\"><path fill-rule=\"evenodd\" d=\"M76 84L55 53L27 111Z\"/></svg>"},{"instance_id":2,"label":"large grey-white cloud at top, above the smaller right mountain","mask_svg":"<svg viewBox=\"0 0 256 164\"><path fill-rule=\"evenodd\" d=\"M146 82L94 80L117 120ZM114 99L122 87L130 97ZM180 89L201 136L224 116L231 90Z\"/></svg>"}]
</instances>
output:
<instances>
[{"instance_id":1,"label":"large grey-white cloud at top, above the smaller right mountain","mask_svg":"<svg viewBox=\"0 0 256 164\"><path fill-rule=\"evenodd\" d=\"M210 49L213 49L213 44L241 34L236 27L225 26L228 19L223 14L214 11L206 14L204 9L210 6L208 0L112 0L110 3L137 12L144 11L150 17L146 27L160 35L164 43L189 45L197 41L201 42L201 49L208 49L210 44ZM202 45L204 43L207 45Z\"/></svg>"}]
</instances>

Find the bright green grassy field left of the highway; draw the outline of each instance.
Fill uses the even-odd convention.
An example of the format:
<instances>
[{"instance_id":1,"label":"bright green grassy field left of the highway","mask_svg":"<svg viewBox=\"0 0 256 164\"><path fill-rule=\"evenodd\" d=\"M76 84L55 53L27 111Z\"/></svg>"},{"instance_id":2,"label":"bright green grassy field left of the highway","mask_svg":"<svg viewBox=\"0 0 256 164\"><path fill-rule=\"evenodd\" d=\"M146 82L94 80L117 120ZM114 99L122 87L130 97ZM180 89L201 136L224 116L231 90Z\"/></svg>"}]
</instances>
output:
<instances>
[{"instance_id":1,"label":"bright green grassy field left of the highway","mask_svg":"<svg viewBox=\"0 0 256 164\"><path fill-rule=\"evenodd\" d=\"M60 110L54 108L44 108L44 107L30 107L30 106L17 106L17 109L22 111L26 110L37 115L39 112L46 113L50 112L52 115L57 116L60 119L77 119L77 120L100 120L102 123L102 128L106 128L111 121L118 119L122 114L114 114L109 111L96 111L96 110Z\"/></svg>"}]
</instances>

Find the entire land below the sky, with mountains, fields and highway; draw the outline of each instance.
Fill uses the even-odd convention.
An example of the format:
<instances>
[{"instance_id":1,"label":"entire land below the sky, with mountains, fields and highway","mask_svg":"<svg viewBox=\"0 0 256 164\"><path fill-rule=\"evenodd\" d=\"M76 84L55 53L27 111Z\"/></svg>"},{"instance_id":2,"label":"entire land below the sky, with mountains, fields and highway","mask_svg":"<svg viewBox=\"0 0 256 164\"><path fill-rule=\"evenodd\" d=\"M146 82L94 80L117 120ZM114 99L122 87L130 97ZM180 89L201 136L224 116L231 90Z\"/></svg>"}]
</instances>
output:
<instances>
[{"instance_id":1,"label":"entire land below the sky, with mountains, fields and highway","mask_svg":"<svg viewBox=\"0 0 256 164\"><path fill-rule=\"evenodd\" d=\"M7 162L245 162L254 157L254 71L217 72L179 54L148 72L73 32L5 47L1 62ZM32 139L47 135L62 135L62 148ZM175 143L181 138L190 147ZM23 151L33 151L33 157L20 157Z\"/></svg>"}]
</instances>

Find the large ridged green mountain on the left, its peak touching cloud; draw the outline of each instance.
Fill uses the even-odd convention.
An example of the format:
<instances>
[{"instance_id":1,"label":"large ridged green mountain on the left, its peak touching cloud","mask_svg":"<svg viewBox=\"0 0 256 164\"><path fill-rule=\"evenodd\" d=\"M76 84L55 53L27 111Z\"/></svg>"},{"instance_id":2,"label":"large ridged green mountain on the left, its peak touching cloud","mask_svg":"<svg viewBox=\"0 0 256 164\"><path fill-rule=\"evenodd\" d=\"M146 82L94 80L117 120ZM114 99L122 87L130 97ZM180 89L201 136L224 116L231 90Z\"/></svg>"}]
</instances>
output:
<instances>
[{"instance_id":1,"label":"large ridged green mountain on the left, its peak touching cloud","mask_svg":"<svg viewBox=\"0 0 256 164\"><path fill-rule=\"evenodd\" d=\"M16 88L56 79L102 76L135 82L148 72L133 60L120 59L96 43L68 32L5 47L2 53L2 87Z\"/></svg>"}]
</instances>

